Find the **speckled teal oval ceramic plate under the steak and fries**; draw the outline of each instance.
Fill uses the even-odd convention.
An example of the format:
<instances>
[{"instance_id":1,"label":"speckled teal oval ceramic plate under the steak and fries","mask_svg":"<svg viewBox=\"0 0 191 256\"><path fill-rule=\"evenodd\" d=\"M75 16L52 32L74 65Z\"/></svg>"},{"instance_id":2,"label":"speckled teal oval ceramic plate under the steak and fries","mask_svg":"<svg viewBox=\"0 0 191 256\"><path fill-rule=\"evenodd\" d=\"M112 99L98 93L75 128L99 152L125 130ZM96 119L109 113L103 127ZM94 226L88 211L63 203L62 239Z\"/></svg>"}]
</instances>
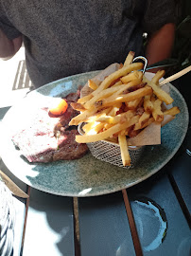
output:
<instances>
[{"instance_id":1,"label":"speckled teal oval ceramic plate under the steak and fries","mask_svg":"<svg viewBox=\"0 0 191 256\"><path fill-rule=\"evenodd\" d=\"M22 127L35 109L52 101L52 97L75 92L96 72L84 73L44 85L29 93L19 104L9 109L3 119L1 156L9 170L31 187L63 196L93 196L129 188L157 173L176 154L188 126L188 110L180 92L171 84L170 95L181 114L162 128L162 144L146 146L143 157L133 169L113 166L97 160L90 153L78 160L63 160L47 164L29 164L16 150L11 134Z\"/></svg>"}]
</instances>

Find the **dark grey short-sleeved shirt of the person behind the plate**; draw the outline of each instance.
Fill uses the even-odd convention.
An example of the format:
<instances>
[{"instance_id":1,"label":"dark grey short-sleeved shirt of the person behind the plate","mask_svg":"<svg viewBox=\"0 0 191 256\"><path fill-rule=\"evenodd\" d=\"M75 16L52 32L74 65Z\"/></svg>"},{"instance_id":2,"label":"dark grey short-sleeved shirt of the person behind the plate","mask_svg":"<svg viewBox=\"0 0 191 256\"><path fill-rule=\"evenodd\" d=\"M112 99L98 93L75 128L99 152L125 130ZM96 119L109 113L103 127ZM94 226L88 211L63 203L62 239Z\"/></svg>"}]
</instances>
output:
<instances>
[{"instance_id":1,"label":"dark grey short-sleeved shirt of the person behind the plate","mask_svg":"<svg viewBox=\"0 0 191 256\"><path fill-rule=\"evenodd\" d=\"M0 0L0 28L23 35L36 87L143 54L143 32L170 22L173 0Z\"/></svg>"}]
</instances>

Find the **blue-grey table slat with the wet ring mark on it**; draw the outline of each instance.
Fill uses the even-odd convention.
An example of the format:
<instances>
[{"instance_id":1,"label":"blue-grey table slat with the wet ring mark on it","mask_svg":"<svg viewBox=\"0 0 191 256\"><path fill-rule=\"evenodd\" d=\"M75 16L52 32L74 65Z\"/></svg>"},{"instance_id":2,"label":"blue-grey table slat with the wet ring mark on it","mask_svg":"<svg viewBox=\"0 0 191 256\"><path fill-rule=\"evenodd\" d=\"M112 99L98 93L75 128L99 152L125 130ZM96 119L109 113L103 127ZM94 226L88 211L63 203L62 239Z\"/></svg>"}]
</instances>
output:
<instances>
[{"instance_id":1,"label":"blue-grey table slat with the wet ring mark on it","mask_svg":"<svg viewBox=\"0 0 191 256\"><path fill-rule=\"evenodd\" d=\"M128 190L143 253L189 255L190 229L164 172Z\"/></svg>"}]
</instances>

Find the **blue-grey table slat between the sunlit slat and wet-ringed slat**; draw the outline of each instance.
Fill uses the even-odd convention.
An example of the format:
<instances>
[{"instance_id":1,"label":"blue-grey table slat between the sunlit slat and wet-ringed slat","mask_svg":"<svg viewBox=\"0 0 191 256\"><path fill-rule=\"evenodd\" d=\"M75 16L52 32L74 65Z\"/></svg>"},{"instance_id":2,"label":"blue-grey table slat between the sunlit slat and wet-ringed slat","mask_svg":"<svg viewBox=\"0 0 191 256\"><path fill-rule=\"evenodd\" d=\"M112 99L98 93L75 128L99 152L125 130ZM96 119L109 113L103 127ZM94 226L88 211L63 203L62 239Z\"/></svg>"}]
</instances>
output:
<instances>
[{"instance_id":1,"label":"blue-grey table slat between the sunlit slat and wet-ringed slat","mask_svg":"<svg viewBox=\"0 0 191 256\"><path fill-rule=\"evenodd\" d=\"M78 198L81 256L135 255L121 192Z\"/></svg>"}]
</instances>

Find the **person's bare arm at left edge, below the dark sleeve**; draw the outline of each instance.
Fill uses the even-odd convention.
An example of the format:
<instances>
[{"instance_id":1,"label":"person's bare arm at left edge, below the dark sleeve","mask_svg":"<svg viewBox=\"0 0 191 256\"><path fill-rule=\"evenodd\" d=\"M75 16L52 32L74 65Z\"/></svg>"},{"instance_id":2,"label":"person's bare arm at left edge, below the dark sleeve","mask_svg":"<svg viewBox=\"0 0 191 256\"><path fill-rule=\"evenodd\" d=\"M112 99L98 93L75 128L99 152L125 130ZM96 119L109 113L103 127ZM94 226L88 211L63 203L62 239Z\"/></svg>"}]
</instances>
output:
<instances>
[{"instance_id":1,"label":"person's bare arm at left edge, below the dark sleeve","mask_svg":"<svg viewBox=\"0 0 191 256\"><path fill-rule=\"evenodd\" d=\"M22 46L22 36L9 40L6 34L0 29L0 58L9 60Z\"/></svg>"}]
</instances>

